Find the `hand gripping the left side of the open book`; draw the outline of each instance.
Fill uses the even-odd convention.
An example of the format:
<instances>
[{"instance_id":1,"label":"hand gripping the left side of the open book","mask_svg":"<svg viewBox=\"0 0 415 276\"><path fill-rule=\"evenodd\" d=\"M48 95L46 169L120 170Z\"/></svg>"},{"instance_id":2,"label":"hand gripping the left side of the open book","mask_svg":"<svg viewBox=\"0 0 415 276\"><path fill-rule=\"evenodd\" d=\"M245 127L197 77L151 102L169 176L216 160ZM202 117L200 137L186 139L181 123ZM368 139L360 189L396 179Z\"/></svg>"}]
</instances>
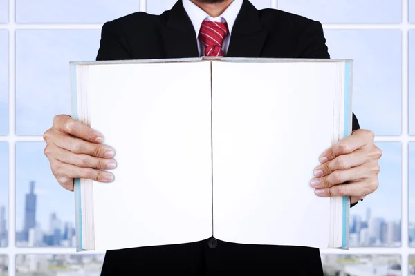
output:
<instances>
[{"instance_id":1,"label":"hand gripping the left side of the open book","mask_svg":"<svg viewBox=\"0 0 415 276\"><path fill-rule=\"evenodd\" d=\"M113 174L102 170L116 168L113 148L100 145L100 132L75 121L68 115L57 115L53 126L44 133L44 153L59 184L73 191L73 179L84 178L100 182L113 181Z\"/></svg>"}]
</instances>

